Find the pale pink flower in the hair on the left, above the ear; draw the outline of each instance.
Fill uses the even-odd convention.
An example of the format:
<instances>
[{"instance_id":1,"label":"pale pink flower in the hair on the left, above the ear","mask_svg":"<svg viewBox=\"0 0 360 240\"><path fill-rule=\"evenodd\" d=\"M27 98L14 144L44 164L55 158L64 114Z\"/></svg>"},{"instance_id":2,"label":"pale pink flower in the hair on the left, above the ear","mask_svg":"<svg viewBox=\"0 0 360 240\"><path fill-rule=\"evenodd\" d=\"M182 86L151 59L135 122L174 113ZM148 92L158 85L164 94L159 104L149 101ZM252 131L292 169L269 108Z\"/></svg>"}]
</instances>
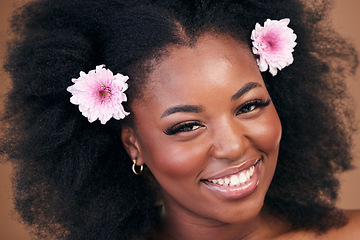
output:
<instances>
[{"instance_id":1,"label":"pale pink flower in the hair on the left, above the ear","mask_svg":"<svg viewBox=\"0 0 360 240\"><path fill-rule=\"evenodd\" d=\"M70 102L79 105L80 112L89 122L99 119L105 124L111 117L120 120L129 115L122 102L127 100L124 91L128 88L128 76L120 73L115 76L105 65L99 65L88 74L80 72L79 78L73 78L74 85L67 91L72 93Z\"/></svg>"}]
</instances>

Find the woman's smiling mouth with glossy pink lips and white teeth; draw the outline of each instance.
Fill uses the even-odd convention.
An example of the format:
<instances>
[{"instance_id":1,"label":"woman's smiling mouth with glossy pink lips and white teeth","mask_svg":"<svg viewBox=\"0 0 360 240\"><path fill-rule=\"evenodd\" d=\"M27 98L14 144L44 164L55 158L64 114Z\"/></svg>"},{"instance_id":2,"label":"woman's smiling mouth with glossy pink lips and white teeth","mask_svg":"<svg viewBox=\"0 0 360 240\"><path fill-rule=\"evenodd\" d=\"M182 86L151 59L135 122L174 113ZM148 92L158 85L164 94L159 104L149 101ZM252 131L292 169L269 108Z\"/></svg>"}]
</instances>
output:
<instances>
[{"instance_id":1,"label":"woman's smiling mouth with glossy pink lips and white teeth","mask_svg":"<svg viewBox=\"0 0 360 240\"><path fill-rule=\"evenodd\" d=\"M262 158L246 162L238 168L217 174L202 182L217 195L228 199L245 197L255 191L260 181Z\"/></svg>"}]
</instances>

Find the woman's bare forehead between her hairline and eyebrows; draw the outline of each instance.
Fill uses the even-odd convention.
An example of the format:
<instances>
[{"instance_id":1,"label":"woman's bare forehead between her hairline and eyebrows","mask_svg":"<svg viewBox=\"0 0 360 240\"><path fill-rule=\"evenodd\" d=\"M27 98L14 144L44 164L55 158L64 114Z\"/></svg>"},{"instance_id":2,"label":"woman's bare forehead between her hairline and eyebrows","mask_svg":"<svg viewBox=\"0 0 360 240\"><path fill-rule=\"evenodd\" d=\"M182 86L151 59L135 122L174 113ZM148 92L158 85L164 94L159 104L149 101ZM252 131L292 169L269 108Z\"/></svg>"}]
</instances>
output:
<instances>
[{"instance_id":1,"label":"woman's bare forehead between her hairline and eyebrows","mask_svg":"<svg viewBox=\"0 0 360 240\"><path fill-rule=\"evenodd\" d=\"M226 36L208 35L193 47L172 47L152 68L144 92L147 101L194 104L191 100L217 88L237 91L247 82L263 81L249 47Z\"/></svg>"}]
</instances>

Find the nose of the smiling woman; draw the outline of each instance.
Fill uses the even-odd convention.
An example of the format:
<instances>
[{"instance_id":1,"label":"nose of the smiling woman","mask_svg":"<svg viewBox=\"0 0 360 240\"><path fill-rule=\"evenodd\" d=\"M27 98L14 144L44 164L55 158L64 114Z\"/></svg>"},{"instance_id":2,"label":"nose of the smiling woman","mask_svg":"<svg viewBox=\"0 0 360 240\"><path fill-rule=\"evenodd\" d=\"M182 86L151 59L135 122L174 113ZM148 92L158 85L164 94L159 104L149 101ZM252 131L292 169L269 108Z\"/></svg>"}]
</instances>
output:
<instances>
[{"instance_id":1,"label":"nose of the smiling woman","mask_svg":"<svg viewBox=\"0 0 360 240\"><path fill-rule=\"evenodd\" d=\"M239 159L250 145L246 126L236 120L224 120L212 131L211 155L216 159Z\"/></svg>"}]
</instances>

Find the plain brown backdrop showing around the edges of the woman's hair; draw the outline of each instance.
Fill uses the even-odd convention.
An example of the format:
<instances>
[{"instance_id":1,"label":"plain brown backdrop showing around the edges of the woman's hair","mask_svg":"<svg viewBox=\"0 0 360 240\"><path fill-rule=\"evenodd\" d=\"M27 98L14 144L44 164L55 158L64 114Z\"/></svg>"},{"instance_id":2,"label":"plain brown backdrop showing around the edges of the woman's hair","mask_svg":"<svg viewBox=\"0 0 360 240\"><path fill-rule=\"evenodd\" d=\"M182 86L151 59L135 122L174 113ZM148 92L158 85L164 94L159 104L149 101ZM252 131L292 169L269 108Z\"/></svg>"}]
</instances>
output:
<instances>
[{"instance_id":1,"label":"plain brown backdrop showing around the edges of the woman's hair","mask_svg":"<svg viewBox=\"0 0 360 240\"><path fill-rule=\"evenodd\" d=\"M16 6L20 6L26 1L27 0L0 0L0 65L2 65L5 55L6 40L9 39L10 36L8 32L10 13ZM360 1L336 0L335 2L335 8L331 12L333 25L360 50ZM360 69L358 69L355 76L347 79L347 82L350 92L356 101L356 116L358 122L360 122ZM3 95L8 89L8 76L0 70L0 103L2 103ZM353 151L357 169L340 176L342 184L338 202L340 208L360 209L360 133L355 135ZM30 239L30 235L27 233L26 228L17 222L17 216L12 208L11 170L10 164L0 165L0 239L28 240Z\"/></svg>"}]
</instances>

